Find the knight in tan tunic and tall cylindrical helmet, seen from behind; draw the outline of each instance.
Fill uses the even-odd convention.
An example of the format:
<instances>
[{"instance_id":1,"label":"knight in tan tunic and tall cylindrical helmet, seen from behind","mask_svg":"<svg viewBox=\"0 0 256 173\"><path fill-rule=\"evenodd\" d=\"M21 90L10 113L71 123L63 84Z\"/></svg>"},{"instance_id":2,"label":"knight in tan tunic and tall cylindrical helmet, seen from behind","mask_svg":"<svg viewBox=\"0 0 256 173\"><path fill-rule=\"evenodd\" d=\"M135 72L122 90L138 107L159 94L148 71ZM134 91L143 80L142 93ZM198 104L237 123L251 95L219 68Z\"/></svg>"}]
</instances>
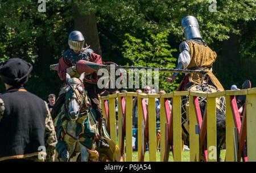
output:
<instances>
[{"instance_id":1,"label":"knight in tan tunic and tall cylindrical helmet, seen from behind","mask_svg":"<svg viewBox=\"0 0 256 173\"><path fill-rule=\"evenodd\" d=\"M212 65L216 60L217 54L202 39L197 19L194 16L185 16L181 20L181 26L186 41L183 41L179 46L180 54L176 69L205 70L207 74L187 74L181 81L177 91L184 91L193 85L201 83L208 83L215 87L217 91L224 91L221 83L212 73ZM168 77L167 82L174 82L178 74L174 73Z\"/></svg>"}]
</instances>

